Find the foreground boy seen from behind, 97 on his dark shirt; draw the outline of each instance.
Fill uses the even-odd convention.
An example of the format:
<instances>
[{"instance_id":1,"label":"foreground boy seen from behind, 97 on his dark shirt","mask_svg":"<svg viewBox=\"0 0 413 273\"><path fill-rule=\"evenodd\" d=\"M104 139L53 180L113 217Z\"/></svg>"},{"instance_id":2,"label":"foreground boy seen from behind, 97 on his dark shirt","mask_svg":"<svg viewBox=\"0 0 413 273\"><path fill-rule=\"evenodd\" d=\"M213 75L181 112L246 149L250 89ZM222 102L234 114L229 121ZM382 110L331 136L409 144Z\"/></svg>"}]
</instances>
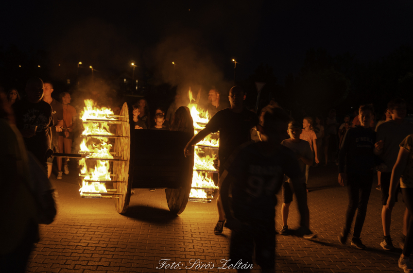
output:
<instances>
[{"instance_id":1,"label":"foreground boy seen from behind, 97 on his dark shirt","mask_svg":"<svg viewBox=\"0 0 413 273\"><path fill-rule=\"evenodd\" d=\"M295 190L300 212L297 234L310 236L308 206L305 202L305 176L293 151L282 146L290 117L280 108L265 113L259 126L262 142L240 146L225 163L220 189L225 211L225 226L232 230L231 263L252 265L252 255L265 272L275 267L275 194L281 188L284 174ZM229 188L232 186L232 211ZM235 269L251 269L235 267Z\"/></svg>"}]
</instances>

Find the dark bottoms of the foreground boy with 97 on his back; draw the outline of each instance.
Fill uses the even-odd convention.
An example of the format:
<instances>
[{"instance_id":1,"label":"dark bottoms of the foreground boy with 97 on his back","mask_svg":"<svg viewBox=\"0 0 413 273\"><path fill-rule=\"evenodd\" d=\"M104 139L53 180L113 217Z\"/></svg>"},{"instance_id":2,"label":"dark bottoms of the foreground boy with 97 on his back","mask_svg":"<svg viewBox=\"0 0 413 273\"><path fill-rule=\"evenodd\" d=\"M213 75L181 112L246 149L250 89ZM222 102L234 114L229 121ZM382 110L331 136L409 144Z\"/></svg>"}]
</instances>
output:
<instances>
[{"instance_id":1,"label":"dark bottoms of the foreground boy with 97 on his back","mask_svg":"<svg viewBox=\"0 0 413 273\"><path fill-rule=\"evenodd\" d=\"M227 265L252 265L255 246L255 260L262 269L275 268L275 221L251 222L238 231L232 231ZM239 263L240 264L240 263Z\"/></svg>"}]
</instances>

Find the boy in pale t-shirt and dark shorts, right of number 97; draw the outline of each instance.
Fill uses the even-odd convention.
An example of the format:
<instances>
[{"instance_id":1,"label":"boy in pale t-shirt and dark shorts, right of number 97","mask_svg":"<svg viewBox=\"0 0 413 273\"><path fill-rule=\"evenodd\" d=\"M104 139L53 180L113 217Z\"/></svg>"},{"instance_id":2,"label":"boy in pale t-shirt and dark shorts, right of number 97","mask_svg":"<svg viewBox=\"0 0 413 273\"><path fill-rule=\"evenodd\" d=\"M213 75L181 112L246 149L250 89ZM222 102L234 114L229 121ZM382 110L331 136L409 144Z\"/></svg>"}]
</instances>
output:
<instances>
[{"instance_id":1,"label":"boy in pale t-shirt and dark shorts, right of number 97","mask_svg":"<svg viewBox=\"0 0 413 273\"><path fill-rule=\"evenodd\" d=\"M307 167L312 165L312 151L310 143L306 140L300 139L302 134L302 128L298 122L292 121L288 124L287 133L290 136L289 139L285 139L281 142L281 145L289 148L295 154L295 157L298 161L300 167L299 172L301 175L307 174ZM314 133L314 132L313 132ZM293 188L290 184L291 179L285 177L284 182L282 183L282 206L281 206L281 216L282 216L282 229L279 231L281 235L288 235L288 212L291 202L293 201ZM303 183L303 187L306 187L306 184ZM306 195L307 200L307 195Z\"/></svg>"}]
</instances>

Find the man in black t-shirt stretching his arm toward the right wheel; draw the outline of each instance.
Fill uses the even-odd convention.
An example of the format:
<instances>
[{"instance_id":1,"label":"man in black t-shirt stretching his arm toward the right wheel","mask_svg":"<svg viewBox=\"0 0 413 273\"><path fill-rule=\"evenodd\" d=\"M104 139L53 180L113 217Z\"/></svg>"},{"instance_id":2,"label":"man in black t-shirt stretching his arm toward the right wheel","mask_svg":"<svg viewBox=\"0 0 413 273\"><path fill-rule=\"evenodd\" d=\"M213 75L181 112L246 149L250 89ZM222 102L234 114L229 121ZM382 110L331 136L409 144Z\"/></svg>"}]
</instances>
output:
<instances>
[{"instance_id":1,"label":"man in black t-shirt stretching his arm toward the right wheel","mask_svg":"<svg viewBox=\"0 0 413 273\"><path fill-rule=\"evenodd\" d=\"M184 149L184 154L187 156L190 154L192 145L195 145L207 135L220 131L218 157L220 176L224 172L224 168L221 166L224 166L225 161L238 146L251 140L250 130L258 124L257 115L242 106L242 102L245 100L245 92L240 86L232 87L229 90L228 98L231 107L216 113L206 124L205 129L192 137ZM218 235L222 233L225 222L225 213L220 197L217 199L217 207L219 219L214 233Z\"/></svg>"}]
</instances>

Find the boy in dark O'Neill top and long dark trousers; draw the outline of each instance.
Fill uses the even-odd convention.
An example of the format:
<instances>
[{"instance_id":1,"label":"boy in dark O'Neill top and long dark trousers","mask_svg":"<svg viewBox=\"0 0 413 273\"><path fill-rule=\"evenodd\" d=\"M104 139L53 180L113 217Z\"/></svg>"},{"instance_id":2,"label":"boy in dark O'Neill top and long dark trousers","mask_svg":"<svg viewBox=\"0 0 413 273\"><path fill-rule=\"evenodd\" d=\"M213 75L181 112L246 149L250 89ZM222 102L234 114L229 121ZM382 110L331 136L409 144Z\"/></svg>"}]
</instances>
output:
<instances>
[{"instance_id":1,"label":"boy in dark O'Neill top and long dark trousers","mask_svg":"<svg viewBox=\"0 0 413 273\"><path fill-rule=\"evenodd\" d=\"M344 182L347 181L349 199L345 224L339 236L339 241L342 244L347 241L351 223L357 210L351 245L358 249L366 247L361 242L360 235L366 218L367 204L373 184L373 170L374 166L377 165L373 150L375 147L379 149L383 147L382 142L376 143L376 133L370 128L373 113L374 110L371 104L360 106L359 120L361 125L348 129L344 136L343 147L339 153L338 182L341 186L344 186Z\"/></svg>"}]
</instances>

